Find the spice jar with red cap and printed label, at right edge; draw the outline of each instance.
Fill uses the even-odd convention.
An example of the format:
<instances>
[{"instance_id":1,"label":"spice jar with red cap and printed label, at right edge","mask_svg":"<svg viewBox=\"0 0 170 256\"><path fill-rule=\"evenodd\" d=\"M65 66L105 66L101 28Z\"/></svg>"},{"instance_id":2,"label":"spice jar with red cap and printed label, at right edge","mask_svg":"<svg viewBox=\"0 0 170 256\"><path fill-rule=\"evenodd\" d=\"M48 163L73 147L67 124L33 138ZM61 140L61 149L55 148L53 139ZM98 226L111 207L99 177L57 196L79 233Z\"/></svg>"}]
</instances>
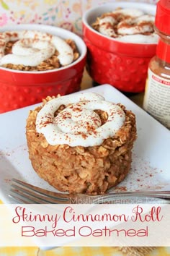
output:
<instances>
[{"instance_id":1,"label":"spice jar with red cap and printed label, at right edge","mask_svg":"<svg viewBox=\"0 0 170 256\"><path fill-rule=\"evenodd\" d=\"M148 65L143 108L170 129L170 0L158 1L155 29L159 40Z\"/></svg>"}]
</instances>

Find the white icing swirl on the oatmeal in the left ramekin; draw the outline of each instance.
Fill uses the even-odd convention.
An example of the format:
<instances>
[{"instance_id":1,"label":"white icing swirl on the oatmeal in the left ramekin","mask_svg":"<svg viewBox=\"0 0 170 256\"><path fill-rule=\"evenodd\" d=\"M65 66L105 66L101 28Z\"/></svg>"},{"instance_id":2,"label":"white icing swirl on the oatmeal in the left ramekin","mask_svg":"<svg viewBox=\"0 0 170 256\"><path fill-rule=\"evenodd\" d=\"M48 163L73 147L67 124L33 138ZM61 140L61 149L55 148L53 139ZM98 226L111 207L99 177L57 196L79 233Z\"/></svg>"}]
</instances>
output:
<instances>
[{"instance_id":1,"label":"white icing swirl on the oatmeal in the left ramekin","mask_svg":"<svg viewBox=\"0 0 170 256\"><path fill-rule=\"evenodd\" d=\"M6 43L17 41L12 54L5 55ZM36 30L9 31L0 33L0 66L4 64L22 64L35 67L58 51L62 66L73 61L73 49L65 40L55 35Z\"/></svg>"}]
</instances>

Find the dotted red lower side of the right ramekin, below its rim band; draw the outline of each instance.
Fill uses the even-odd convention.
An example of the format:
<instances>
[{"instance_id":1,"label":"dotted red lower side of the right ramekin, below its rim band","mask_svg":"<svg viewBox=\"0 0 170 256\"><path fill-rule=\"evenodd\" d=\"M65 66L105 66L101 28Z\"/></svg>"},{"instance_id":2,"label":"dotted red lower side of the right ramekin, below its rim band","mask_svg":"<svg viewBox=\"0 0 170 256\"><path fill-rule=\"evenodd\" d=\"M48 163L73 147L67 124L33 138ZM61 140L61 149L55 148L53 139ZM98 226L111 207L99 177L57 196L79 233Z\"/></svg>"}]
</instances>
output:
<instances>
[{"instance_id":1,"label":"dotted red lower side of the right ramekin, below its rim band","mask_svg":"<svg viewBox=\"0 0 170 256\"><path fill-rule=\"evenodd\" d=\"M109 83L125 92L143 92L146 84L149 58L129 57L98 48L86 40L87 70L95 82Z\"/></svg>"}]
</instances>

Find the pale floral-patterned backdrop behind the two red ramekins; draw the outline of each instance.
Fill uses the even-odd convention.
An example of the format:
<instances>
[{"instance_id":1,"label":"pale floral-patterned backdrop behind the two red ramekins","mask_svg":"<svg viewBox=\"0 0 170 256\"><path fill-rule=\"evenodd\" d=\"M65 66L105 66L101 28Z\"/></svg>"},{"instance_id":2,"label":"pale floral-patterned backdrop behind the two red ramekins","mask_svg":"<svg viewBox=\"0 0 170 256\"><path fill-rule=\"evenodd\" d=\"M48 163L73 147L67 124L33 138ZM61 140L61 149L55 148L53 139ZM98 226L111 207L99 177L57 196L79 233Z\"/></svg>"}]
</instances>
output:
<instances>
[{"instance_id":1,"label":"pale floral-patterned backdrop behind the two red ramekins","mask_svg":"<svg viewBox=\"0 0 170 256\"><path fill-rule=\"evenodd\" d=\"M137 0L156 4L157 0ZM112 0L0 0L0 27L21 23L55 25L81 34L82 14Z\"/></svg>"}]
</instances>

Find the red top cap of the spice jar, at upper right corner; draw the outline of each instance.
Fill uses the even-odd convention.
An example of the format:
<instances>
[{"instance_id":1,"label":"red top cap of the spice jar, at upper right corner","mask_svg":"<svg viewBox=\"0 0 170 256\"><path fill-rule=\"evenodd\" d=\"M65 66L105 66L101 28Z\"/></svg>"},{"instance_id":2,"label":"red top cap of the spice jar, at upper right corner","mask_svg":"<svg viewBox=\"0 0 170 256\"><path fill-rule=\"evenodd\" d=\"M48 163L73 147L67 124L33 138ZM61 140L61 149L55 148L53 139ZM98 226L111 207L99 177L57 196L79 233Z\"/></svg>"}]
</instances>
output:
<instances>
[{"instance_id":1,"label":"red top cap of the spice jar, at upper right corner","mask_svg":"<svg viewBox=\"0 0 170 256\"><path fill-rule=\"evenodd\" d=\"M155 26L161 33L170 35L170 0L158 1Z\"/></svg>"}]
</instances>

